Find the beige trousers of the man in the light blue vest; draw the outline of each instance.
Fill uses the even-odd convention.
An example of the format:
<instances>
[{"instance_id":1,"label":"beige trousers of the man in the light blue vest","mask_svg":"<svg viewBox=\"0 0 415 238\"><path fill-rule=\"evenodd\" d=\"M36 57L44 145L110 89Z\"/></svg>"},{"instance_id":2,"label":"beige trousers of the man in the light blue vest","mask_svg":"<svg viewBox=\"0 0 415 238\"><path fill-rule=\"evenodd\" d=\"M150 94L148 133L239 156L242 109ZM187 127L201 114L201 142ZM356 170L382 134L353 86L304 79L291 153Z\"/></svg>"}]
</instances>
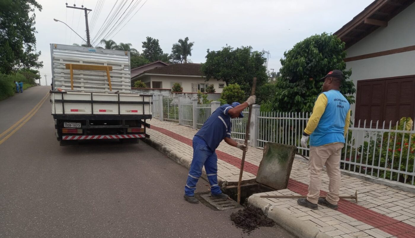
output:
<instances>
[{"instance_id":1,"label":"beige trousers of the man in the light blue vest","mask_svg":"<svg viewBox=\"0 0 415 238\"><path fill-rule=\"evenodd\" d=\"M320 197L321 171L326 165L327 175L329 176L329 193L327 202L337 204L340 192L340 154L344 143L327 144L318 147L310 147L310 161L308 161L308 185L307 200L317 204Z\"/></svg>"}]
</instances>

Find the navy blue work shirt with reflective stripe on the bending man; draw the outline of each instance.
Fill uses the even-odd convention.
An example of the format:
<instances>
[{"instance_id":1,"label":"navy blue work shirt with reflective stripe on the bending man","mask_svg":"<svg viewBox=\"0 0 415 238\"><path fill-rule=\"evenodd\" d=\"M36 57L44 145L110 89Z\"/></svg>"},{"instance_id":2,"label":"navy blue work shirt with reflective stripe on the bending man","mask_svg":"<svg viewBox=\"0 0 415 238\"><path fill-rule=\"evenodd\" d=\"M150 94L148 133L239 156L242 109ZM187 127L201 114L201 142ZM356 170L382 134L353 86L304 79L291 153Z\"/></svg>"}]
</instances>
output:
<instances>
[{"instance_id":1,"label":"navy blue work shirt with reflective stripe on the bending man","mask_svg":"<svg viewBox=\"0 0 415 238\"><path fill-rule=\"evenodd\" d=\"M215 151L225 137L231 137L231 115L228 114L231 108L233 107L229 104L217 108L196 133L212 151Z\"/></svg>"}]
</instances>

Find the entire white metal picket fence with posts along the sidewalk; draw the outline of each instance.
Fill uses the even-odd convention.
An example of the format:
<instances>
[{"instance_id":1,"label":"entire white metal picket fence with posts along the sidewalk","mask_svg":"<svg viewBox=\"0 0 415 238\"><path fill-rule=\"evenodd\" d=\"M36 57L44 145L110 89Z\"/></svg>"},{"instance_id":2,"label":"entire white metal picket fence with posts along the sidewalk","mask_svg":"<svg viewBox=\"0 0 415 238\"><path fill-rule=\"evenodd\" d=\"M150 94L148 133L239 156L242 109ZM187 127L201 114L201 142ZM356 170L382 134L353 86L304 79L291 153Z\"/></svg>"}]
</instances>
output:
<instances>
[{"instance_id":1,"label":"entire white metal picket fence with posts along the sidewalk","mask_svg":"<svg viewBox=\"0 0 415 238\"><path fill-rule=\"evenodd\" d=\"M192 125L193 128L201 128L212 110L219 106L215 103L198 104L195 99L179 100L179 110L176 97L164 98L162 106L160 98L154 98L154 116L157 116L157 107L161 107L165 119L181 125ZM248 109L243 113L244 118L232 119L234 139L245 139ZM300 144L309 116L310 113L260 112L257 106L252 112L249 144L254 147L264 147L266 142L288 144L296 146L298 153L309 156L310 149ZM359 121L356 124L352 122L347 132L340 166L343 170L374 178L415 185L414 157L415 129L412 120L405 118L397 123Z\"/></svg>"}]
</instances>

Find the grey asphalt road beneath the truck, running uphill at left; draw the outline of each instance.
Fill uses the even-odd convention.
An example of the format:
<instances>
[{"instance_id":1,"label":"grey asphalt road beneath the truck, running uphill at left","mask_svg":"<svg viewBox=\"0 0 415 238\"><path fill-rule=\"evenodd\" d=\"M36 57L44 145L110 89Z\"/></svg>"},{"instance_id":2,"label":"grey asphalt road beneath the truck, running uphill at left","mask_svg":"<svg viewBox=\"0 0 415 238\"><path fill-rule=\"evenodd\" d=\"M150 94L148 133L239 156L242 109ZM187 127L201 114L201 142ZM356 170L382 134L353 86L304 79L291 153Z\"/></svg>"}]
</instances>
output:
<instances>
[{"instance_id":1,"label":"grey asphalt road beneath the truck, running uphill at left","mask_svg":"<svg viewBox=\"0 0 415 238\"><path fill-rule=\"evenodd\" d=\"M48 90L34 87L0 101L0 133ZM278 226L248 236L229 220L235 210L186 202L187 169L143 142L60 147L49 99L5 136L0 137L0 237L293 237ZM200 180L198 191L207 185Z\"/></svg>"}]
</instances>

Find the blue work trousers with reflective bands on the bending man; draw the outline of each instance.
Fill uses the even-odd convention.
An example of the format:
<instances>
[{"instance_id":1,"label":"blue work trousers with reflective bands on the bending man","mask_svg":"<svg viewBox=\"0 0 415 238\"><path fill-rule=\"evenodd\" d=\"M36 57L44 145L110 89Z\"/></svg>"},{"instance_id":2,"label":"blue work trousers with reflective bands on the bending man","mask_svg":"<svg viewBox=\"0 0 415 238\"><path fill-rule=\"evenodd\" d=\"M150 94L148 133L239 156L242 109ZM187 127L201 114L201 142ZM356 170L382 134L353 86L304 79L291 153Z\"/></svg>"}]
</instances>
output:
<instances>
[{"instance_id":1,"label":"blue work trousers with reflective bands on the bending man","mask_svg":"<svg viewBox=\"0 0 415 238\"><path fill-rule=\"evenodd\" d=\"M193 137L193 160L190 164L190 171L187 177L184 191L186 196L194 196L196 183L202 175L202 168L205 166L207 178L210 183L210 192L212 194L221 194L217 184L217 155L206 144L205 140L195 136Z\"/></svg>"}]
</instances>

